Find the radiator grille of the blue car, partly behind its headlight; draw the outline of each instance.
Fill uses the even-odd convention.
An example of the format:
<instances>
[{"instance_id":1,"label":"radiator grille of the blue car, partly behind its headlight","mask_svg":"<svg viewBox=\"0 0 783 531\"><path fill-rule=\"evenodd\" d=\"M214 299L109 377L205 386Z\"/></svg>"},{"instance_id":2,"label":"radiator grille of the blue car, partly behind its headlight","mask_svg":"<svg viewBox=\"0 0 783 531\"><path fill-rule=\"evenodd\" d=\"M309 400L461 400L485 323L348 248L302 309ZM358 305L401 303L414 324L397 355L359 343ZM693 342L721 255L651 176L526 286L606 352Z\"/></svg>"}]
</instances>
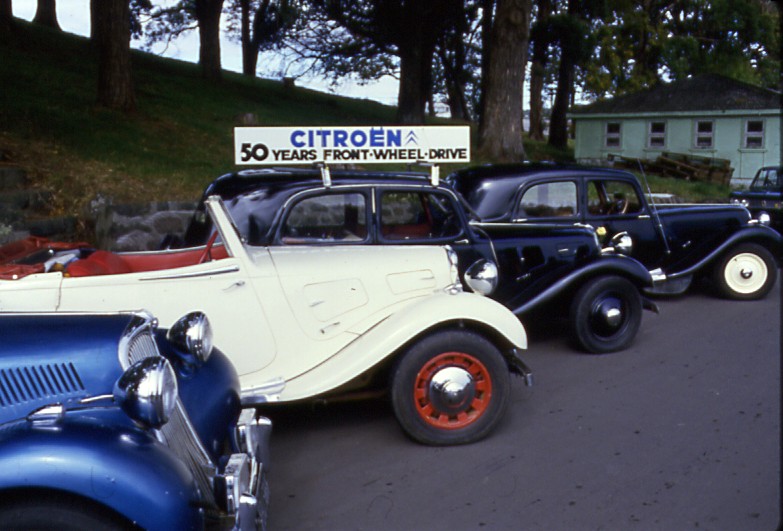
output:
<instances>
[{"instance_id":1,"label":"radiator grille of the blue car, partly behind its headlight","mask_svg":"<svg viewBox=\"0 0 783 531\"><path fill-rule=\"evenodd\" d=\"M128 361L134 364L145 358L160 356L155 340L149 333L136 334L128 344ZM171 448L188 465L196 478L202 500L210 507L216 507L212 478L216 469L209 455L188 419L182 402L177 405L169 421L157 431L158 439Z\"/></svg>"}]
</instances>

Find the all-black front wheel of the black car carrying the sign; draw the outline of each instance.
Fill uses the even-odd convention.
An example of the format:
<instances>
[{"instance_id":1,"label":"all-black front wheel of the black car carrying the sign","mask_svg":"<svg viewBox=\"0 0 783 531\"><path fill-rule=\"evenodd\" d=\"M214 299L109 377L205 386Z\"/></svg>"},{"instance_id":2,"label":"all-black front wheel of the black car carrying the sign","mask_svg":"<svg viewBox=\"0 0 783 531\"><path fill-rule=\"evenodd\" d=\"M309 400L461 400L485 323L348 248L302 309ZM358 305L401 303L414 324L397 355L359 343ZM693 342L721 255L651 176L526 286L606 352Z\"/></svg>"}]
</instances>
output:
<instances>
[{"instance_id":1,"label":"all-black front wheel of the black car carrying the sign","mask_svg":"<svg viewBox=\"0 0 783 531\"><path fill-rule=\"evenodd\" d=\"M642 296L618 276L591 279L571 302L569 326L577 346L593 354L628 348L642 322Z\"/></svg>"}]
</instances>

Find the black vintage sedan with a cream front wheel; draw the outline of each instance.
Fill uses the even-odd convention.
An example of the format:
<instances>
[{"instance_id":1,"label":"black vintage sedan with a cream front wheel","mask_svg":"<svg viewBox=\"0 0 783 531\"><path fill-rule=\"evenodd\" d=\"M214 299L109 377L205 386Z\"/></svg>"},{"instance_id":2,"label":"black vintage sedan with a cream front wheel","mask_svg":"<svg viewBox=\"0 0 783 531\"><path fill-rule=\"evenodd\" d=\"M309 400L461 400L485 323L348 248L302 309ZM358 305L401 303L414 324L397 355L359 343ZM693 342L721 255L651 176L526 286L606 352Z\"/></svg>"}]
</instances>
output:
<instances>
[{"instance_id":1,"label":"black vintage sedan with a cream front wheel","mask_svg":"<svg viewBox=\"0 0 783 531\"><path fill-rule=\"evenodd\" d=\"M777 279L780 234L741 205L656 205L633 174L607 168L487 165L446 180L490 223L595 227L604 245L650 270L652 293L682 293L703 276L725 297L758 299Z\"/></svg>"}]
</instances>

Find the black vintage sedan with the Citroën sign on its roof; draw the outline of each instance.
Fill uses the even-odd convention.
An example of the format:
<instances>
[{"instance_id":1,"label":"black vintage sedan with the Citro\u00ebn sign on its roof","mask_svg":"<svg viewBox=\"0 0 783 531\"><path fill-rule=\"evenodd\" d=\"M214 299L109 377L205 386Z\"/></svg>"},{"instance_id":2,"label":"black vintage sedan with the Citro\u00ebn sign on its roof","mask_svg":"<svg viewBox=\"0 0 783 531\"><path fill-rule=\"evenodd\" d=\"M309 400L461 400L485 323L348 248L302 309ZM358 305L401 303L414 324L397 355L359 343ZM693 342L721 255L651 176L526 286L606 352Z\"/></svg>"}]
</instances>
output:
<instances>
[{"instance_id":1,"label":"black vintage sedan with the Citro\u00ebn sign on its roof","mask_svg":"<svg viewBox=\"0 0 783 531\"><path fill-rule=\"evenodd\" d=\"M649 272L632 258L603 253L592 228L487 224L426 174L245 170L215 180L204 198L212 195L224 199L251 245L448 245L470 289L526 323L546 310L567 317L578 346L590 352L628 347L642 308L656 309L640 294L652 286ZM203 244L212 231L200 209L174 246Z\"/></svg>"}]
</instances>

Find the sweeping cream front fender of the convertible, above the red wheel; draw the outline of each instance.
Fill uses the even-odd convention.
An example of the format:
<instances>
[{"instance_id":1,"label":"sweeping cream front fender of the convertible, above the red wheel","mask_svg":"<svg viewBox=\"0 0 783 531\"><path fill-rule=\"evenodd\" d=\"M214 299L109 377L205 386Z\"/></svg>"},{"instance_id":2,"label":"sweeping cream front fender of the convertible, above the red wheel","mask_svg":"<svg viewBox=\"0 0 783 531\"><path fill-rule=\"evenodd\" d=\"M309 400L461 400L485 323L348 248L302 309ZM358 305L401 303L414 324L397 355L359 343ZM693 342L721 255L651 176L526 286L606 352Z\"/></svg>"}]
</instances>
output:
<instances>
[{"instance_id":1,"label":"sweeping cream front fender of the convertible, above the red wheel","mask_svg":"<svg viewBox=\"0 0 783 531\"><path fill-rule=\"evenodd\" d=\"M421 335L438 328L464 326L482 332L504 354L527 348L522 323L500 303L466 292L438 292L403 306L337 354L313 369L286 381L282 400L326 393L364 374Z\"/></svg>"}]
</instances>

